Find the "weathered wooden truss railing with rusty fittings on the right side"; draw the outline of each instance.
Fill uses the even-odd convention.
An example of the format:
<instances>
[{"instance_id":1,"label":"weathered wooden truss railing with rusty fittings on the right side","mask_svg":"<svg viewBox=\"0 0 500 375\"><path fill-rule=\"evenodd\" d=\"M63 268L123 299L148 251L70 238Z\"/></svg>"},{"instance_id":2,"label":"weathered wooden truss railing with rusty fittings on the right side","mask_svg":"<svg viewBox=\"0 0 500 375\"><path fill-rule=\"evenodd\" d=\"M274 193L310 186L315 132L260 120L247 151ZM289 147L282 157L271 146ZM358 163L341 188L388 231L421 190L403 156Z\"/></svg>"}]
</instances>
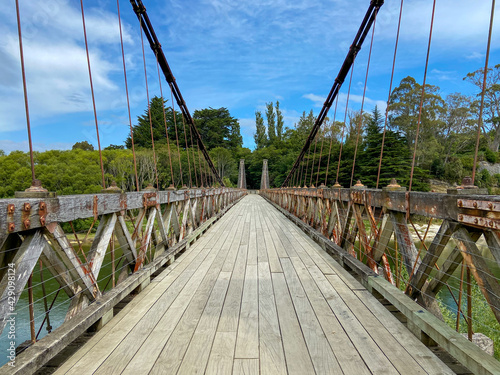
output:
<instances>
[{"instance_id":1,"label":"weathered wooden truss railing with rusty fittings on the right side","mask_svg":"<svg viewBox=\"0 0 500 375\"><path fill-rule=\"evenodd\" d=\"M465 322L472 339L473 329L484 324L483 317L473 317L472 288L481 291L479 296L491 308L491 331L500 327L495 321L500 321L500 196L477 192L483 191L423 193L406 192L397 184L381 190L359 184L351 189L281 188L260 194L309 231L344 267L358 273L369 289L377 289L375 280L384 277L441 320L442 303L436 296L445 289L450 309L458 311L457 327ZM377 289L392 297L387 290ZM398 304L397 299L392 302ZM432 339L440 338L436 333ZM439 344L450 346L445 337ZM452 355L470 361L461 350Z\"/></svg>"}]
</instances>

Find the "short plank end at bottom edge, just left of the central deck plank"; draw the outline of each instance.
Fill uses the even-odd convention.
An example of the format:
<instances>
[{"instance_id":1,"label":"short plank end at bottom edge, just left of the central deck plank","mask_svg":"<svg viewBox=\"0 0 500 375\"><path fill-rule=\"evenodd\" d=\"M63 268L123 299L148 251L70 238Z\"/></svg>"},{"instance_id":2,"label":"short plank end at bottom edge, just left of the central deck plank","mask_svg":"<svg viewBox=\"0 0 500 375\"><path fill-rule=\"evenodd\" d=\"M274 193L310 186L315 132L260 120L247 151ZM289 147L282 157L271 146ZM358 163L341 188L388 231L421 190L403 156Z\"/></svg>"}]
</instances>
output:
<instances>
[{"instance_id":1,"label":"short plank end at bottom edge, just left of the central deck plank","mask_svg":"<svg viewBox=\"0 0 500 375\"><path fill-rule=\"evenodd\" d=\"M207 375L230 375L233 372L236 332L217 332L210 351Z\"/></svg>"}]
</instances>

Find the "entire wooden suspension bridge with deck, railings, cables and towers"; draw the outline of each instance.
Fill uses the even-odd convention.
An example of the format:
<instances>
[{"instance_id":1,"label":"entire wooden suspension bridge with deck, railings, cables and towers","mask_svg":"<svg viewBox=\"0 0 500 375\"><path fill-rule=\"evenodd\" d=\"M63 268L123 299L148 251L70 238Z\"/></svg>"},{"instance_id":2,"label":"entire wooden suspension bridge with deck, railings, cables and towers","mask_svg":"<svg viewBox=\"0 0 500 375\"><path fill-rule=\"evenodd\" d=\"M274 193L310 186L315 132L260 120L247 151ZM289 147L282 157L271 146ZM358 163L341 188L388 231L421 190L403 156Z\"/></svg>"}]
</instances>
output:
<instances>
[{"instance_id":1,"label":"entire wooden suspension bridge with deck, railings, cables and towers","mask_svg":"<svg viewBox=\"0 0 500 375\"><path fill-rule=\"evenodd\" d=\"M474 185L477 147L473 176L447 193L412 191L415 153L408 188L395 180L379 188L383 145L374 188L355 183L356 152L350 187L338 183L340 155L329 181L328 154L319 186L323 155L317 169L305 158L313 143L317 147L383 1L370 2L283 185L271 188L273 165L264 160L257 191L247 189L244 160L238 186L224 186L144 4L131 3L141 40L145 36L156 59L160 90L163 73L181 111L175 139L166 120L165 137L169 150L184 141L188 171L182 172L179 156L180 178L174 179L177 155L171 153L168 188L159 183L156 158L156 186L139 183L129 108L136 191L107 181L102 156L101 193L56 196L44 189L31 146L16 1L32 186L0 199L0 329L8 343L0 373L499 374L497 359L472 342L482 323L472 313L473 287L500 322L500 197ZM119 2L117 14L120 20ZM431 37L432 22L427 60ZM491 32L488 52L490 40ZM123 42L122 58L127 82ZM369 62L367 75L368 68ZM485 74L487 68L488 54ZM422 87L423 97L425 78ZM152 125L151 141L154 153ZM88 249L85 234L74 230L78 219L97 227ZM436 298L442 290L454 299L456 329L443 321ZM64 303L57 302L60 295ZM52 327L57 309L65 309L65 318ZM38 326L35 315L42 318ZM457 332L460 320L465 336ZM22 344L16 341L21 325L30 330ZM48 333L40 338L42 329Z\"/></svg>"}]
</instances>

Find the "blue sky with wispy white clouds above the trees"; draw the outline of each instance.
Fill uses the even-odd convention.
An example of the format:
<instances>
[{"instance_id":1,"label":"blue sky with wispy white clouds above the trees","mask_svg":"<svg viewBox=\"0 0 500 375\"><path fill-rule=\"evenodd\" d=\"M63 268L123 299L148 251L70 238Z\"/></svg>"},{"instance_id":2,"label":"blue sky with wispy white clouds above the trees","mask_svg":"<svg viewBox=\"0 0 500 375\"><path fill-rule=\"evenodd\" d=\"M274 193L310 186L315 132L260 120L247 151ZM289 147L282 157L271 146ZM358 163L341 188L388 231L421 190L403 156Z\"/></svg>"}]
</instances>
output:
<instances>
[{"instance_id":1,"label":"blue sky with wispy white clouds above the trees","mask_svg":"<svg viewBox=\"0 0 500 375\"><path fill-rule=\"evenodd\" d=\"M369 0L143 0L188 108L227 107L244 146L254 147L255 111L280 101L285 124L317 114L366 12ZM20 0L35 150L96 145L85 46L77 0ZM385 108L399 0L386 0L377 19L365 110ZM116 1L84 0L97 115L103 147L128 133ZM120 8L132 118L146 108L139 23L129 1ZM432 1L406 0L395 84L422 82ZM484 66L491 1L438 0L428 83L474 94L463 81ZM500 5L496 9L498 14ZM0 149L28 150L15 2L0 7ZM350 109L363 94L369 38L355 64ZM159 95L154 56L146 46L150 96ZM490 66L500 63L495 22ZM164 85L166 87L166 85ZM343 119L347 83L341 90ZM330 114L330 117L333 113Z\"/></svg>"}]
</instances>

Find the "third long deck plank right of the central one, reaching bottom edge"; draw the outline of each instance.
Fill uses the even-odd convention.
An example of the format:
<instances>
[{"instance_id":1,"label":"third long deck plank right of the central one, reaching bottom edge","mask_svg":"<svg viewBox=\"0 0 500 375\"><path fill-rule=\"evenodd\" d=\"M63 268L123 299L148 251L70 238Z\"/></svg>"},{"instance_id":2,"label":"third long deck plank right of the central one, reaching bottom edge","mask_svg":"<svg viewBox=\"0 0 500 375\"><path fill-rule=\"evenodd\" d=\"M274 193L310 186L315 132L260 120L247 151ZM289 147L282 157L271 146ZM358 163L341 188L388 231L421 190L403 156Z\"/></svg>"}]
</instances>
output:
<instances>
[{"instance_id":1,"label":"third long deck plank right of the central one, reaching bottom edge","mask_svg":"<svg viewBox=\"0 0 500 375\"><path fill-rule=\"evenodd\" d=\"M288 290L316 373L342 373L325 333L314 313L290 259L281 259Z\"/></svg>"}]
</instances>

